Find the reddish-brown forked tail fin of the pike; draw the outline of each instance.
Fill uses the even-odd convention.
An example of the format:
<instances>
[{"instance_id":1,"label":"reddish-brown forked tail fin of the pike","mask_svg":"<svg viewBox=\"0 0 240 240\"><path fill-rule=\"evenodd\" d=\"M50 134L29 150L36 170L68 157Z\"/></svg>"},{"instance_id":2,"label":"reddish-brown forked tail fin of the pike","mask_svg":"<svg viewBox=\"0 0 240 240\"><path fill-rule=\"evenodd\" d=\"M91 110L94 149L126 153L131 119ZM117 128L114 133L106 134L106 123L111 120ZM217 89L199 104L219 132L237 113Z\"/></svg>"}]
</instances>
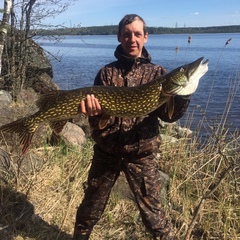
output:
<instances>
[{"instance_id":1,"label":"reddish-brown forked tail fin of the pike","mask_svg":"<svg viewBox=\"0 0 240 240\"><path fill-rule=\"evenodd\" d=\"M0 132L17 133L19 135L20 144L22 145L22 155L25 155L29 149L34 133L37 127L31 127L25 124L26 118L18 119L0 127Z\"/></svg>"}]
</instances>

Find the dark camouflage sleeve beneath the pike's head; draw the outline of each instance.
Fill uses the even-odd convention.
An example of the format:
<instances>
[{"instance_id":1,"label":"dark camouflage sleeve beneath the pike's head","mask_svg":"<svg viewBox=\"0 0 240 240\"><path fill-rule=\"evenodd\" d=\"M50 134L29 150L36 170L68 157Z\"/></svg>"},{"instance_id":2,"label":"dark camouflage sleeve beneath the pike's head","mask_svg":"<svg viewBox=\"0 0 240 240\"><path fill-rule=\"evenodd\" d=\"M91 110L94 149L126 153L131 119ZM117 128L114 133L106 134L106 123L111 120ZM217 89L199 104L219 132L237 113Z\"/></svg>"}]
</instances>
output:
<instances>
[{"instance_id":1,"label":"dark camouflage sleeve beneath the pike's head","mask_svg":"<svg viewBox=\"0 0 240 240\"><path fill-rule=\"evenodd\" d=\"M174 112L171 119L168 117L168 113L166 111L166 103L163 104L158 109L156 109L153 112L153 114L157 115L164 122L175 122L184 115L188 108L189 103L190 95L188 96L177 95L174 97Z\"/></svg>"}]
</instances>

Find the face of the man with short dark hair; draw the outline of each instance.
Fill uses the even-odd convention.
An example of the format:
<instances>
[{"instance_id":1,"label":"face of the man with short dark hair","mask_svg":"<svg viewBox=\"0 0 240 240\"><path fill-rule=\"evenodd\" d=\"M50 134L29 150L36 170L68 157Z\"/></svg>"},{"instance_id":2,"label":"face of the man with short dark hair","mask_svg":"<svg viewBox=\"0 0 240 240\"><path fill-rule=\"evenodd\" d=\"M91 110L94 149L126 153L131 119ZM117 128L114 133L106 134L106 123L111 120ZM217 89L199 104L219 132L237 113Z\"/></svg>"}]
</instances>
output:
<instances>
[{"instance_id":1,"label":"face of the man with short dark hair","mask_svg":"<svg viewBox=\"0 0 240 240\"><path fill-rule=\"evenodd\" d=\"M144 43L148 40L148 34L144 35L143 22L136 19L122 28L118 34L118 41L121 43L125 54L129 57L141 57Z\"/></svg>"}]
</instances>

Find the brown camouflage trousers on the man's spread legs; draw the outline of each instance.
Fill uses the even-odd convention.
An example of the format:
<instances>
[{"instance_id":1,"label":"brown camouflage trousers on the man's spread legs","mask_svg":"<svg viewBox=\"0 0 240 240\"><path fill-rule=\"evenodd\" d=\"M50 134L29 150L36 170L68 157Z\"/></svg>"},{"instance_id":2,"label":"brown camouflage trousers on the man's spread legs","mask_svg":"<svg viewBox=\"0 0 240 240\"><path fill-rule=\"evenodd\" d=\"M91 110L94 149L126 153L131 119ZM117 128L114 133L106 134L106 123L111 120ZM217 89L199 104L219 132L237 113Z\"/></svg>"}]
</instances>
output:
<instances>
[{"instance_id":1,"label":"brown camouflage trousers on the man's spread legs","mask_svg":"<svg viewBox=\"0 0 240 240\"><path fill-rule=\"evenodd\" d=\"M105 209L120 171L125 173L146 228L154 236L161 236L170 230L161 207L161 178L154 155L152 153L141 156L129 155L130 157L121 158L109 156L95 146L85 196L76 215L75 234L91 233Z\"/></svg>"}]
</instances>

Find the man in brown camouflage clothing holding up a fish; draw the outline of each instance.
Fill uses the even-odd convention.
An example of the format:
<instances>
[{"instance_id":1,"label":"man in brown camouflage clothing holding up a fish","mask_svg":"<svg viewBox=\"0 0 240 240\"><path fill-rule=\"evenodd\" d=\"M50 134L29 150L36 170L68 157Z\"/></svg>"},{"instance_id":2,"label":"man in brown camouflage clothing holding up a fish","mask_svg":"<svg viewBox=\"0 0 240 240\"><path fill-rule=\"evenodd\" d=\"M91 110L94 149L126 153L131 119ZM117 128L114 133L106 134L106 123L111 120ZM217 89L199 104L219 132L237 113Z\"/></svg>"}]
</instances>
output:
<instances>
[{"instance_id":1,"label":"man in brown camouflage clothing holding up a fish","mask_svg":"<svg viewBox=\"0 0 240 240\"><path fill-rule=\"evenodd\" d=\"M94 84L138 86L164 74L164 68L151 63L150 55L144 47L147 40L144 20L136 14L126 15L118 28L120 45L115 51L117 61L104 66ZM142 221L153 238L177 239L173 236L161 206L161 180L154 156L160 146L158 118L168 122L176 121L184 114L188 104L189 97L176 96L171 120L163 105L145 117L111 117L107 126L99 129L102 109L98 100L91 95L81 102L81 111L89 116L96 144L88 186L76 215L74 240L89 239L121 171L125 173Z\"/></svg>"}]
</instances>

